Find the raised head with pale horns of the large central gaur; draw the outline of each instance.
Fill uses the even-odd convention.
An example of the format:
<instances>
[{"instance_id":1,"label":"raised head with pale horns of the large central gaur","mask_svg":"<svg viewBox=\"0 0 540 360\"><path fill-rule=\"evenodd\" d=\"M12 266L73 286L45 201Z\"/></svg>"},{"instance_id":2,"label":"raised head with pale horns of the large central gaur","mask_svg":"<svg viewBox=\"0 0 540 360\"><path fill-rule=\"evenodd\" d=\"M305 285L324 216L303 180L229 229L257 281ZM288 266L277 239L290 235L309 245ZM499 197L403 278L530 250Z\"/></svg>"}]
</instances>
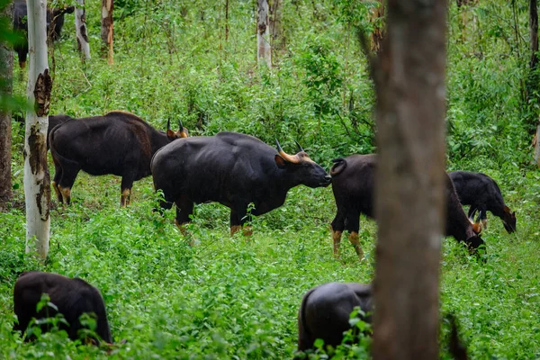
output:
<instances>
[{"instance_id":1,"label":"raised head with pale horns of the large central gaur","mask_svg":"<svg viewBox=\"0 0 540 360\"><path fill-rule=\"evenodd\" d=\"M326 171L306 154L298 142L298 153L289 155L279 145L275 139L277 154L275 155L275 165L291 173L295 183L304 184L310 187L328 186L331 177Z\"/></svg>"}]
</instances>

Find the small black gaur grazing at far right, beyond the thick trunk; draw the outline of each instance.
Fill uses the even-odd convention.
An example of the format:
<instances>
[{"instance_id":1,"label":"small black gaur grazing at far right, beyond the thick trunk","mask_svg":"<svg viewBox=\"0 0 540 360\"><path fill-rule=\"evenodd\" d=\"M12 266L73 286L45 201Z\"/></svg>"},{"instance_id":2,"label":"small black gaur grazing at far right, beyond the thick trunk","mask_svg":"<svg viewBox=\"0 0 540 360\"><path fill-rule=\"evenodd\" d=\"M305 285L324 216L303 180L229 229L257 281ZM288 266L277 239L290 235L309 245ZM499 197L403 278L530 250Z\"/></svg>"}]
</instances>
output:
<instances>
[{"instance_id":1,"label":"small black gaur grazing at far right, beyond the thick trunk","mask_svg":"<svg viewBox=\"0 0 540 360\"><path fill-rule=\"evenodd\" d=\"M487 211L500 217L504 229L509 233L516 231L516 212L505 205L499 185L490 176L469 171L448 173L454 182L455 192L463 205L471 205L469 216L474 211L482 212L483 228L488 227Z\"/></svg>"}]
</instances>

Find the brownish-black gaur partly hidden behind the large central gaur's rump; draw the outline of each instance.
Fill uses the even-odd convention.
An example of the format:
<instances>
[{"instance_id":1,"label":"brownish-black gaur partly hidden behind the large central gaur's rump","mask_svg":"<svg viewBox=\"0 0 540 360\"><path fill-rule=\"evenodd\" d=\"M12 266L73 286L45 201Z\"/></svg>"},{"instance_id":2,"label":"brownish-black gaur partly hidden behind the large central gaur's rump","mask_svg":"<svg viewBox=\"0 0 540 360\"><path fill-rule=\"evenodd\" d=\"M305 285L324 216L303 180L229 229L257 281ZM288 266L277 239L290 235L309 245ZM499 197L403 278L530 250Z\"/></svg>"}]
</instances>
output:
<instances>
[{"instance_id":1,"label":"brownish-black gaur partly hidden behind the large central gaur's rump","mask_svg":"<svg viewBox=\"0 0 540 360\"><path fill-rule=\"evenodd\" d=\"M80 170L90 175L121 176L121 206L130 203L133 182L150 175L150 161L159 148L187 137L180 130L157 131L130 112L71 119L51 130L50 153L56 174L52 187L58 202L71 201L71 187Z\"/></svg>"}]
</instances>

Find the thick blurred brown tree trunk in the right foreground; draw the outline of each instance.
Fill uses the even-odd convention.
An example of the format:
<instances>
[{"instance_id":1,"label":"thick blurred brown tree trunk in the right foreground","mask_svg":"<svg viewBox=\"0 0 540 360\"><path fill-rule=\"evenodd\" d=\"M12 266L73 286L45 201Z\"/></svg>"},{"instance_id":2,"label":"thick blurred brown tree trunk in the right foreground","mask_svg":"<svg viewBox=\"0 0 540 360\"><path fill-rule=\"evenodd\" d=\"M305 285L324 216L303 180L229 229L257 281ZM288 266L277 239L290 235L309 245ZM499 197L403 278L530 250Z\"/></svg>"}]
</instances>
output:
<instances>
[{"instance_id":1,"label":"thick blurred brown tree trunk in the right foreground","mask_svg":"<svg viewBox=\"0 0 540 360\"><path fill-rule=\"evenodd\" d=\"M437 359L446 1L388 0L374 71L379 167L374 359Z\"/></svg>"}]
</instances>

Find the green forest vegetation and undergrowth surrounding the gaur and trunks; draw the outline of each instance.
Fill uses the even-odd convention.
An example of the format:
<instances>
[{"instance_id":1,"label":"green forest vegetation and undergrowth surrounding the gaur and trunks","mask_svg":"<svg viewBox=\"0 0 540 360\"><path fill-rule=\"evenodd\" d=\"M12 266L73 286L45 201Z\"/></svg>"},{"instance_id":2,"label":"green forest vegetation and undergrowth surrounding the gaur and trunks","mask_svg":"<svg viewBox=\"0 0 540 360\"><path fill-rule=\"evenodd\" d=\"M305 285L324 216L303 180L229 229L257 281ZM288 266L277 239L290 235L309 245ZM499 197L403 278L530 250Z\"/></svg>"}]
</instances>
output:
<instances>
[{"instance_id":1,"label":"green forest vegetation and undergrowth surrounding the gaur and trunks","mask_svg":"<svg viewBox=\"0 0 540 360\"><path fill-rule=\"evenodd\" d=\"M375 152L374 85L357 29L382 26L371 16L378 2L281 3L283 32L273 39L267 68L257 66L254 1L116 0L109 65L100 49L101 4L86 0L92 58L81 61L67 15L62 40L49 49L49 114L124 110L161 130L180 120L192 136L234 130L268 144L277 138L290 152L296 139L327 170L332 158ZM454 239L444 242L442 312L455 313L473 358L540 357L540 172L531 147L538 104L527 97L528 36L525 2L450 4L447 168L491 175L518 216L518 233L508 235L490 214L485 264ZM15 95L24 96L26 76L14 67ZM200 205L192 248L172 211L165 220L152 212L151 179L136 183L132 205L121 209L119 178L82 174L71 206L53 200L49 261L41 265L24 255L23 206L16 206L24 199L23 135L14 121L15 206L0 213L0 357L107 356L62 333L23 344L11 332L13 284L24 270L97 286L113 338L128 340L112 352L120 358L290 358L303 293L329 281L373 278L374 221L361 220L366 262L346 246L340 261L332 257L329 188L293 189L284 207L253 221L249 240L229 238L227 209ZM443 321L444 358L447 334ZM366 343L340 354L367 356Z\"/></svg>"}]
</instances>

